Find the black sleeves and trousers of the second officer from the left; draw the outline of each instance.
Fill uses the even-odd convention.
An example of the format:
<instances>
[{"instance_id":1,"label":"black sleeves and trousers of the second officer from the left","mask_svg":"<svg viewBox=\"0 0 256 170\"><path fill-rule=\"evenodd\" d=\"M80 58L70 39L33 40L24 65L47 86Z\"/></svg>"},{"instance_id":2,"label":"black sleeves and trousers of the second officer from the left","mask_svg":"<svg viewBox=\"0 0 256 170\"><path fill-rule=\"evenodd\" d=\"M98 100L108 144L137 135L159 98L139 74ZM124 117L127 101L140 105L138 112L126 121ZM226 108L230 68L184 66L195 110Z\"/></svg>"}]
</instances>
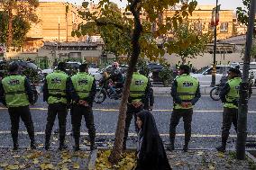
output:
<instances>
[{"instance_id":1,"label":"black sleeves and trousers of the second officer from the left","mask_svg":"<svg viewBox=\"0 0 256 170\"><path fill-rule=\"evenodd\" d=\"M64 142L65 142L65 136L66 136L66 121L67 121L67 115L68 115L68 107L70 103L70 94L69 94L70 84L71 84L71 81L70 81L70 78L68 78L66 82L66 96L65 96L68 102L67 103L50 103L48 106L47 124L45 129L45 148L46 149L50 148L51 131L57 115L59 120L59 149L66 148ZM47 80L45 80L44 82L42 92L43 92L43 102L47 102L48 98L50 97Z\"/></svg>"}]
</instances>

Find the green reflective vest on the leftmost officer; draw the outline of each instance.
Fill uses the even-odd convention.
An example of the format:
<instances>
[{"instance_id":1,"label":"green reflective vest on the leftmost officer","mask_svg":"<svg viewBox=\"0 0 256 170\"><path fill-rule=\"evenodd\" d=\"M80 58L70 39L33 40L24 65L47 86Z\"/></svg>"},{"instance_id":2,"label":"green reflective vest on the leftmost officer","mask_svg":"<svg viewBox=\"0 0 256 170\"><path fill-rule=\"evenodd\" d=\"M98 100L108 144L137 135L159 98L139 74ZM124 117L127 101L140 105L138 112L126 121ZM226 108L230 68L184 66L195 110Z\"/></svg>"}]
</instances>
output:
<instances>
[{"instance_id":1,"label":"green reflective vest on the leftmost officer","mask_svg":"<svg viewBox=\"0 0 256 170\"><path fill-rule=\"evenodd\" d=\"M25 76L6 76L2 80L5 91L7 107L19 107L29 105L28 96L25 92Z\"/></svg>"}]
</instances>

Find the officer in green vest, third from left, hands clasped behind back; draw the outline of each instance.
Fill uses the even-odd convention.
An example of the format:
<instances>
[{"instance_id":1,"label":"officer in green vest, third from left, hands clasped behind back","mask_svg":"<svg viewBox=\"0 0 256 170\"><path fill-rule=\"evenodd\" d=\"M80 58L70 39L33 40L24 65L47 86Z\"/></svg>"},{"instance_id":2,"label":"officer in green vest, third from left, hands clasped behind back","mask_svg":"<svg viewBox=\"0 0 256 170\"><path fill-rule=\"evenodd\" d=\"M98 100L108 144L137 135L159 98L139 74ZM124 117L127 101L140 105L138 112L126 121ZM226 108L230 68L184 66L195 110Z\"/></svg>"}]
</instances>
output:
<instances>
[{"instance_id":1,"label":"officer in green vest, third from left, hands clasped behind back","mask_svg":"<svg viewBox=\"0 0 256 170\"><path fill-rule=\"evenodd\" d=\"M85 118L90 138L90 149L94 150L96 129L93 115L93 102L96 95L96 80L88 74L87 64L79 66L78 74L71 76L71 122L73 137L75 139L75 150L79 150L80 127L82 117Z\"/></svg>"}]
</instances>

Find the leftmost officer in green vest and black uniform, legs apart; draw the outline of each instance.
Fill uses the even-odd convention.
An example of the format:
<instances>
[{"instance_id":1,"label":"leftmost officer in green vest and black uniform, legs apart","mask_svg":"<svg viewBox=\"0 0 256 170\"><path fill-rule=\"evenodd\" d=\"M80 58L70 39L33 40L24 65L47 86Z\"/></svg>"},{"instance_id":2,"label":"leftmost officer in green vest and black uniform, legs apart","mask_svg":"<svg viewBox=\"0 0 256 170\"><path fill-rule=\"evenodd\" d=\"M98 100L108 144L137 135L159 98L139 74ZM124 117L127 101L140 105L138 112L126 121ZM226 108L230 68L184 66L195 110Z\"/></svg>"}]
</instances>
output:
<instances>
[{"instance_id":1,"label":"leftmost officer in green vest and black uniform, legs apart","mask_svg":"<svg viewBox=\"0 0 256 170\"><path fill-rule=\"evenodd\" d=\"M34 127L29 108L29 105L33 104L32 87L26 76L19 75L19 65L15 62L9 65L9 75L2 79L0 96L1 103L7 106L10 115L14 150L19 148L20 118L24 122L31 139L31 148L35 149Z\"/></svg>"}]
</instances>

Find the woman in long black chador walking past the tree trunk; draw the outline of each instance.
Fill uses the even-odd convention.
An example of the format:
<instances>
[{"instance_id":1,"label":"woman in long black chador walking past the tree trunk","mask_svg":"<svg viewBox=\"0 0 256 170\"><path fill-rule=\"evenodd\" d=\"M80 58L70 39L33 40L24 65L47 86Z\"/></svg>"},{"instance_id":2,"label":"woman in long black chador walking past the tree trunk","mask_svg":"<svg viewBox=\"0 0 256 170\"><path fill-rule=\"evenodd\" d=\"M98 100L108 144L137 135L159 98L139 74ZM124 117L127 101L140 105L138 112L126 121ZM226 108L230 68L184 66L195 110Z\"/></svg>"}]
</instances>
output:
<instances>
[{"instance_id":1,"label":"woman in long black chador walking past the tree trunk","mask_svg":"<svg viewBox=\"0 0 256 170\"><path fill-rule=\"evenodd\" d=\"M137 113L138 134L137 166L135 170L169 170L168 158L151 112Z\"/></svg>"}]
</instances>

